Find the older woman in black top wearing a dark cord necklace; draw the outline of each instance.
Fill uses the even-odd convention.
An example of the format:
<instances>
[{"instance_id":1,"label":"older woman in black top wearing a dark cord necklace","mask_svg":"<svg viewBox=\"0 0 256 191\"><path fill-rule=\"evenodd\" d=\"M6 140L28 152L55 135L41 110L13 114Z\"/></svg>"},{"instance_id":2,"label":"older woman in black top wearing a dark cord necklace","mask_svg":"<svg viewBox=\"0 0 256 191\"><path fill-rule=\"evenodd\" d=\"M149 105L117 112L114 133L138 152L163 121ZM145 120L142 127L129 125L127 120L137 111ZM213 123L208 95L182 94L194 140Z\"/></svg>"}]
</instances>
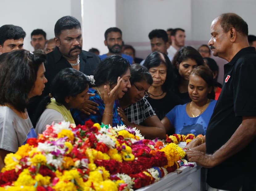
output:
<instances>
[{"instance_id":1,"label":"older woman in black top wearing a dark cord necklace","mask_svg":"<svg viewBox=\"0 0 256 191\"><path fill-rule=\"evenodd\" d=\"M167 55L153 52L146 58L145 66L153 78L148 89L148 102L161 120L176 105L182 104L181 99L172 90L173 69Z\"/></svg>"}]
</instances>

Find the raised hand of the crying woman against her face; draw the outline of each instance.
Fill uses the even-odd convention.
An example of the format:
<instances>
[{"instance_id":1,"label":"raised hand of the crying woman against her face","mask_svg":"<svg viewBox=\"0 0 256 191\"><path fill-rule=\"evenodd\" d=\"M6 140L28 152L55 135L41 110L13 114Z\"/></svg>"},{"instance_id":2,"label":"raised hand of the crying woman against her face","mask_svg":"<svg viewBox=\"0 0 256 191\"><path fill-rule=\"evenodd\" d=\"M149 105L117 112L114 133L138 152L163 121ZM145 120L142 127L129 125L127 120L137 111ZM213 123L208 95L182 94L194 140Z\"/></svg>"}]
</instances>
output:
<instances>
[{"instance_id":1,"label":"raised hand of the crying woman against her face","mask_svg":"<svg viewBox=\"0 0 256 191\"><path fill-rule=\"evenodd\" d=\"M110 91L110 86L105 85L104 86L104 104L105 105L112 105L114 104L115 99L117 99L118 91L122 83L122 78L118 77L117 79L117 85Z\"/></svg>"}]
</instances>

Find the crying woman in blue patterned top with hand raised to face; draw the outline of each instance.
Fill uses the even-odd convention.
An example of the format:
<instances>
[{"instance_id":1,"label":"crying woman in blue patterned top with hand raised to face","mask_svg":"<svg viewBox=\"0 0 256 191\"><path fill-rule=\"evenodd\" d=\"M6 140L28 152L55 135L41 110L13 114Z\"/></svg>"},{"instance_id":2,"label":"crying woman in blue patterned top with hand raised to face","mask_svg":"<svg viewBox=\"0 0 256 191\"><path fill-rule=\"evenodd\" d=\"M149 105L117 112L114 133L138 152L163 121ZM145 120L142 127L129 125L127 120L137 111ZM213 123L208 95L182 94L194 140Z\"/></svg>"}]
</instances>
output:
<instances>
[{"instance_id":1,"label":"crying woman in blue patterned top with hand raised to face","mask_svg":"<svg viewBox=\"0 0 256 191\"><path fill-rule=\"evenodd\" d=\"M91 119L94 123L104 123L113 127L123 125L118 115L118 99L121 99L130 84L130 64L128 60L112 55L101 60L94 72L94 84L88 93L95 94L89 99L98 104L96 114L87 115L77 109L71 110L76 125L84 125Z\"/></svg>"}]
</instances>

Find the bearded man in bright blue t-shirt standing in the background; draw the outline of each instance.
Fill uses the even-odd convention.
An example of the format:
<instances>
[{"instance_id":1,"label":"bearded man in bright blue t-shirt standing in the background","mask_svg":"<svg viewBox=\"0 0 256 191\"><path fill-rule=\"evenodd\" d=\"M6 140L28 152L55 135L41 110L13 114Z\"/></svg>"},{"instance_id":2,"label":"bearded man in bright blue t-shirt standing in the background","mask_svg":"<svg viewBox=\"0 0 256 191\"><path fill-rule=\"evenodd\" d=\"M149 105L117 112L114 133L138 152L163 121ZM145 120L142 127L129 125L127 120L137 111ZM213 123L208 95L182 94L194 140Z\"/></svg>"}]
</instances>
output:
<instances>
[{"instance_id":1,"label":"bearded man in bright blue t-shirt standing in the background","mask_svg":"<svg viewBox=\"0 0 256 191\"><path fill-rule=\"evenodd\" d=\"M122 31L118 29L117 27L111 27L105 31L105 46L108 47L109 52L103 55L100 55L100 59L103 60L105 57L110 55L119 55L123 58L126 58L130 64L133 63L132 57L122 54L122 46L123 46L123 40L122 40Z\"/></svg>"}]
</instances>

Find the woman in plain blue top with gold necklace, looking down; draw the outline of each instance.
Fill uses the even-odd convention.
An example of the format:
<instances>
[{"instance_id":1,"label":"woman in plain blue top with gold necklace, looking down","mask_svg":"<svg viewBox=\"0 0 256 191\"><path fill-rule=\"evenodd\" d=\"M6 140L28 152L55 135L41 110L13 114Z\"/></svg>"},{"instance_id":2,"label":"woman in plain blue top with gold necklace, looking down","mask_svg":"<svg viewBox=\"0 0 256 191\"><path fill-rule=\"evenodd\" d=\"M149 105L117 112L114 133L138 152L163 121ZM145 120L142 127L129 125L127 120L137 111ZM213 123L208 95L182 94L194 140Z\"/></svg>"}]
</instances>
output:
<instances>
[{"instance_id":1,"label":"woman in plain blue top with gold necklace, looking down","mask_svg":"<svg viewBox=\"0 0 256 191\"><path fill-rule=\"evenodd\" d=\"M194 68L189 75L188 94L191 102L177 105L162 119L168 134L205 135L216 104L213 73L205 66Z\"/></svg>"}]
</instances>

